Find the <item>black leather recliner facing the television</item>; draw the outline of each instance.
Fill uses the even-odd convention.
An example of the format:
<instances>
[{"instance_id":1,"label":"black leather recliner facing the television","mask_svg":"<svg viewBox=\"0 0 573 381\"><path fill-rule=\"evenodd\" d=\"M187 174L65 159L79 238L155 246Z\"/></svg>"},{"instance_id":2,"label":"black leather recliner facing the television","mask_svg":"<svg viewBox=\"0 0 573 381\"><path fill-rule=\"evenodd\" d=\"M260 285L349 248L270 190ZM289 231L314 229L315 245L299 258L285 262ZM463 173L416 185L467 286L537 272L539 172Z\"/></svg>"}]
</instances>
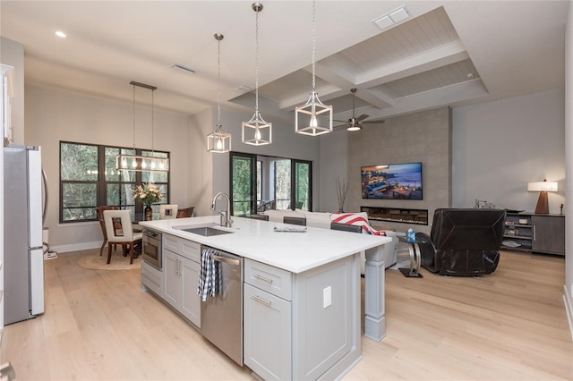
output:
<instances>
[{"instance_id":1,"label":"black leather recliner facing the television","mask_svg":"<svg viewBox=\"0 0 573 381\"><path fill-rule=\"evenodd\" d=\"M422 267L440 275L492 274L500 261L506 211L436 209L430 236L416 233Z\"/></svg>"}]
</instances>

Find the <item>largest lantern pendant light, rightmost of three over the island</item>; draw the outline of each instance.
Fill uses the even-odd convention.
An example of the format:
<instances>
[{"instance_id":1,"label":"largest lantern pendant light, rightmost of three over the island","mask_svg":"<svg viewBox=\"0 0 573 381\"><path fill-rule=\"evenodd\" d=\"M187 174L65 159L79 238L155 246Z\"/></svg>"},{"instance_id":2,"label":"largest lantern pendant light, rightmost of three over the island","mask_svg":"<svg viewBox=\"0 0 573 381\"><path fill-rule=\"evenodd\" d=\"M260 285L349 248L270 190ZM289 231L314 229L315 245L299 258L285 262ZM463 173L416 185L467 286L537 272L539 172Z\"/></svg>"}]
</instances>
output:
<instances>
[{"instance_id":1,"label":"largest lantern pendant light, rightmost of three over the island","mask_svg":"<svg viewBox=\"0 0 573 381\"><path fill-rule=\"evenodd\" d=\"M314 33L315 2L312 1L312 92L304 106L295 108L295 132L318 136L332 132L332 106L324 105L316 92L316 37ZM321 116L321 118L319 118ZM327 122L328 120L328 122Z\"/></svg>"}]
</instances>

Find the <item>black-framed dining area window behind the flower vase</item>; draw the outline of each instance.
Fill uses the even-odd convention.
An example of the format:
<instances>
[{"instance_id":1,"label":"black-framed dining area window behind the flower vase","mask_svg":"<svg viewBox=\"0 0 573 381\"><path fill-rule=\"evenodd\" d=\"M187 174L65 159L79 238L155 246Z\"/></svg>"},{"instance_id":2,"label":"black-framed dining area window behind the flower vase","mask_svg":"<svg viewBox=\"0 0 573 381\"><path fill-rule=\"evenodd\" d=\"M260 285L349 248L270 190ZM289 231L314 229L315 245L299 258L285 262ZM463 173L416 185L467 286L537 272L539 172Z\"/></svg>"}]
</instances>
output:
<instances>
[{"instance_id":1,"label":"black-framed dining area window behind the flower vase","mask_svg":"<svg viewBox=\"0 0 573 381\"><path fill-rule=\"evenodd\" d=\"M169 174L163 172L118 171L115 156L169 157L167 152L60 142L60 223L96 221L98 206L114 206L143 213L132 190L137 184L155 182L169 201ZM158 213L158 206L154 206Z\"/></svg>"}]
</instances>

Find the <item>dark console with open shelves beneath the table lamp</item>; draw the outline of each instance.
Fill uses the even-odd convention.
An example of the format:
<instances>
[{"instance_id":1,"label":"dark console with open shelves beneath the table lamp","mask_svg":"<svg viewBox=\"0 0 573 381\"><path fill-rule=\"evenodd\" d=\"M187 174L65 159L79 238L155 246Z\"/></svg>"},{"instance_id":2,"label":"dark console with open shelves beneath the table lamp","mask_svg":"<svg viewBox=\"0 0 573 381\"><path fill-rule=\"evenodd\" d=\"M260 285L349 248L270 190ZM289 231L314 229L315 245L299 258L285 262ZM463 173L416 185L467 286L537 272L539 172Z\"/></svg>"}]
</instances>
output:
<instances>
[{"instance_id":1,"label":"dark console with open shelves beneath the table lamp","mask_svg":"<svg viewBox=\"0 0 573 381\"><path fill-rule=\"evenodd\" d=\"M508 213L503 241L503 250L565 255L565 216Z\"/></svg>"}]
</instances>

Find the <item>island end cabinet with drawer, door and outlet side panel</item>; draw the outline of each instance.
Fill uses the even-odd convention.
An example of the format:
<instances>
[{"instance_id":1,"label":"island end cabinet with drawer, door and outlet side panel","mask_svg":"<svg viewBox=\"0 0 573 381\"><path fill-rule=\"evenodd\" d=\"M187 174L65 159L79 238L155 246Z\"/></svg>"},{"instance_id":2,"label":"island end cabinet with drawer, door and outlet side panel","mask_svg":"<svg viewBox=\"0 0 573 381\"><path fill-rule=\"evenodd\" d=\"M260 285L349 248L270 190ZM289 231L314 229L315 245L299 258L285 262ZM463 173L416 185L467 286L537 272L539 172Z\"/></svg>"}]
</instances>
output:
<instances>
[{"instance_id":1,"label":"island end cabinet with drawer, door and outlet side panel","mask_svg":"<svg viewBox=\"0 0 573 381\"><path fill-rule=\"evenodd\" d=\"M360 358L360 255L303 273L244 260L244 364L270 379L330 379Z\"/></svg>"}]
</instances>

